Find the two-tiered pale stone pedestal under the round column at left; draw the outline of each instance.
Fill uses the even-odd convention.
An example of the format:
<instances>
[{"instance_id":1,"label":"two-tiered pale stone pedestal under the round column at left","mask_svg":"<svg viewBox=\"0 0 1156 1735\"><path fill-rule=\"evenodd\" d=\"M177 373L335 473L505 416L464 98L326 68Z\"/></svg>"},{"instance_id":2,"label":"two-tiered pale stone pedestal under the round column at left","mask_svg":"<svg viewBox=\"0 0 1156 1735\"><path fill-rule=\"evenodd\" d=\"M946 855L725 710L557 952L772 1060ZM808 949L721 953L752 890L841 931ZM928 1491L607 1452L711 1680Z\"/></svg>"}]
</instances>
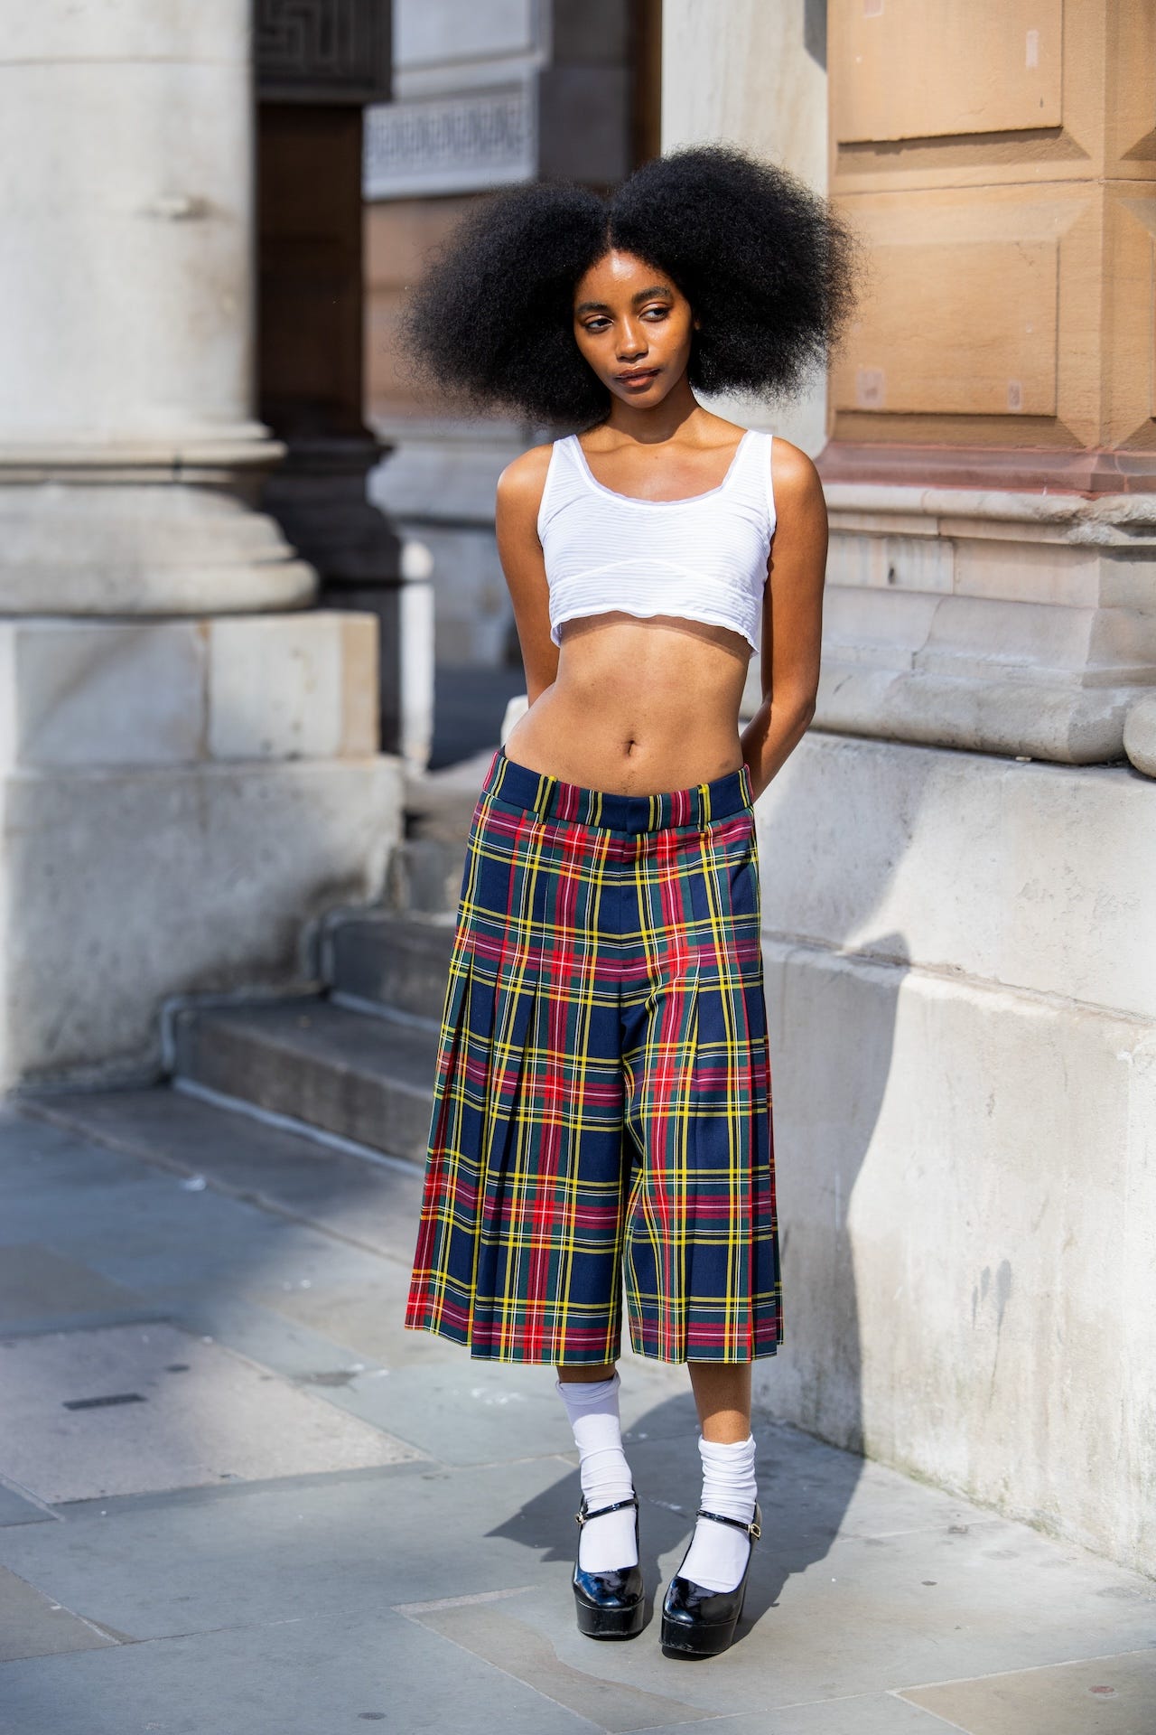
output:
<instances>
[{"instance_id":1,"label":"two-tiered pale stone pedestal under the round column at left","mask_svg":"<svg viewBox=\"0 0 1156 1735\"><path fill-rule=\"evenodd\" d=\"M161 1070L170 994L300 984L381 895L376 619L0 621L0 1090Z\"/></svg>"}]
</instances>

